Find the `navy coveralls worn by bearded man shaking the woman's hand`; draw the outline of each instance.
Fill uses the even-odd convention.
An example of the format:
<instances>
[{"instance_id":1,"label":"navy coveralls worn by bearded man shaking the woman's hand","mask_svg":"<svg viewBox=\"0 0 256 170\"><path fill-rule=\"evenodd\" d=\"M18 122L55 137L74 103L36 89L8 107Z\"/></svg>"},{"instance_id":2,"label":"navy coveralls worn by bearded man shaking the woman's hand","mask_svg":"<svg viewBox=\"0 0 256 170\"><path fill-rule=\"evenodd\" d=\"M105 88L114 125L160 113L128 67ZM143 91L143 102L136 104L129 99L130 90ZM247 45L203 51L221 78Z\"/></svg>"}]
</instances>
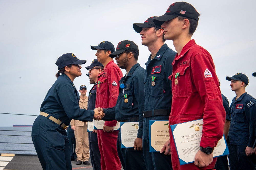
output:
<instances>
[{"instance_id":1,"label":"navy coveralls worn by bearded man shaking the woman's hand","mask_svg":"<svg viewBox=\"0 0 256 170\"><path fill-rule=\"evenodd\" d=\"M117 120L119 122L139 122L137 137L142 138L143 115L144 110L144 85L143 79L145 69L139 63L135 64L129 71L129 74L122 77L120 84L124 84L124 92L119 88L119 95L116 106L103 109L106 116L103 120ZM126 77L126 78L125 78ZM127 103L124 102L124 94L127 94ZM139 115L141 114L141 115ZM119 130L117 139L117 151L124 169L146 169L143 159L143 152L134 150L134 148L121 149L121 131ZM125 166L124 166L125 165Z\"/></svg>"}]
</instances>

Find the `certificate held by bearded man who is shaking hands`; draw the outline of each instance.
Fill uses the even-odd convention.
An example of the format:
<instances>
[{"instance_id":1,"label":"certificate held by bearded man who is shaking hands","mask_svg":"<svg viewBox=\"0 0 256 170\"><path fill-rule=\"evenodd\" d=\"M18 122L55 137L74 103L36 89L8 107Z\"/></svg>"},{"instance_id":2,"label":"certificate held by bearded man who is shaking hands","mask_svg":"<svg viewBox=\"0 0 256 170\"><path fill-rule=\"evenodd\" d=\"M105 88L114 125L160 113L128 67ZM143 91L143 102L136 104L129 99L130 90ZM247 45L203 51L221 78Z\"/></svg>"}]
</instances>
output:
<instances>
[{"instance_id":1,"label":"certificate held by bearded man who is shaking hands","mask_svg":"<svg viewBox=\"0 0 256 170\"><path fill-rule=\"evenodd\" d=\"M133 148L138 130L139 122L120 122L121 148Z\"/></svg>"}]
</instances>

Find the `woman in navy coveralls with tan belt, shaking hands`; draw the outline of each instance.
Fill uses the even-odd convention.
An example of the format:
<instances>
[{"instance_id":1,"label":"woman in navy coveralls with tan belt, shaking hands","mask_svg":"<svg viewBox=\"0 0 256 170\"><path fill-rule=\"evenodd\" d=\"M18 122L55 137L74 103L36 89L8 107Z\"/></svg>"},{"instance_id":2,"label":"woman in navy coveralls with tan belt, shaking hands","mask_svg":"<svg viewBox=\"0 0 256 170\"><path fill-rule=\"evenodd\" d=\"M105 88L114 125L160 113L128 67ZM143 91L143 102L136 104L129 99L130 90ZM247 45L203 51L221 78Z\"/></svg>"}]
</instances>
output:
<instances>
[{"instance_id":1,"label":"woman in navy coveralls with tan belt, shaking hands","mask_svg":"<svg viewBox=\"0 0 256 170\"><path fill-rule=\"evenodd\" d=\"M63 54L58 58L58 78L49 89L41 104L40 115L32 127L32 141L38 159L45 170L71 170L69 140L66 125L72 119L80 121L101 120L98 110L86 110L79 107L79 94L73 84L74 78L80 76L80 64L86 60L79 60L74 54ZM61 73L61 75L60 75Z\"/></svg>"}]
</instances>

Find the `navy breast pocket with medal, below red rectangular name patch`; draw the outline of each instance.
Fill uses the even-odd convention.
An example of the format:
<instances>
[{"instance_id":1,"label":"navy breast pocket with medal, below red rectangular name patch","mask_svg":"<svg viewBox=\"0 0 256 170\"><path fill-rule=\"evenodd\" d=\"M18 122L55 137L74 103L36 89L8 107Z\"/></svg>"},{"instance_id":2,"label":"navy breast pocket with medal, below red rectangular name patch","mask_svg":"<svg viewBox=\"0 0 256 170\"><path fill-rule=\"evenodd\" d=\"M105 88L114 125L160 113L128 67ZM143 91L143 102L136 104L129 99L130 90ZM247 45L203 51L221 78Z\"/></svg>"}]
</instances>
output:
<instances>
[{"instance_id":1,"label":"navy breast pocket with medal, below red rectangular name patch","mask_svg":"<svg viewBox=\"0 0 256 170\"><path fill-rule=\"evenodd\" d=\"M155 78L155 83L154 86L152 85L152 76L156 77ZM152 74L149 78L148 81L151 86L151 95L150 97L152 98L162 98L164 96L164 74L163 73L157 73L157 74Z\"/></svg>"}]
</instances>

